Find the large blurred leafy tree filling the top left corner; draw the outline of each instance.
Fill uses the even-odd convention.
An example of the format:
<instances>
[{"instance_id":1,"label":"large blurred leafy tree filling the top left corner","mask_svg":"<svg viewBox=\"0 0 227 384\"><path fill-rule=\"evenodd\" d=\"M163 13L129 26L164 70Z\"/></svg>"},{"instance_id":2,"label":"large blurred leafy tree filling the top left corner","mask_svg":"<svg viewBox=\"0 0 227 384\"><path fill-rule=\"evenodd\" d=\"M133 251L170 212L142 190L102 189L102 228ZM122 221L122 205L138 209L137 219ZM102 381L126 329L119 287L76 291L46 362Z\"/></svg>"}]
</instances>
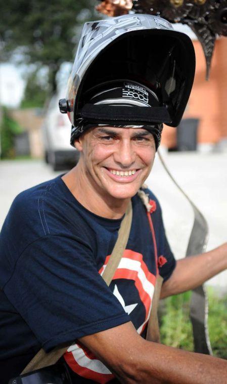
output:
<instances>
[{"instance_id":1,"label":"large blurred leafy tree filling the top left corner","mask_svg":"<svg viewBox=\"0 0 227 384\"><path fill-rule=\"evenodd\" d=\"M73 59L81 25L97 18L96 0L7 0L1 4L0 57L48 68L49 90ZM100 16L99 16L100 17Z\"/></svg>"}]
</instances>

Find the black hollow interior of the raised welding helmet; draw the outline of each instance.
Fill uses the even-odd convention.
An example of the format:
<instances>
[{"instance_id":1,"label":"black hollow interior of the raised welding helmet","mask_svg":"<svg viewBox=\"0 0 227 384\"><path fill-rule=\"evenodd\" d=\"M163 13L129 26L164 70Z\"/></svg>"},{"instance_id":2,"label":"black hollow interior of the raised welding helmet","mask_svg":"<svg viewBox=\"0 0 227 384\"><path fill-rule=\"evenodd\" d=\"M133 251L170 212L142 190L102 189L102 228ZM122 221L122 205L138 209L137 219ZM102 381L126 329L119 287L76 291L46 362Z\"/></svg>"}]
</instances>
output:
<instances>
[{"instance_id":1,"label":"black hollow interior of the raised welding helmet","mask_svg":"<svg viewBox=\"0 0 227 384\"><path fill-rule=\"evenodd\" d=\"M163 29L127 32L99 53L81 79L74 125L85 118L110 124L113 121L134 124L165 122L177 126L185 111L194 75L195 52L186 34ZM90 90L117 79L143 84L157 95L159 104L155 108L107 108L90 103Z\"/></svg>"}]
</instances>

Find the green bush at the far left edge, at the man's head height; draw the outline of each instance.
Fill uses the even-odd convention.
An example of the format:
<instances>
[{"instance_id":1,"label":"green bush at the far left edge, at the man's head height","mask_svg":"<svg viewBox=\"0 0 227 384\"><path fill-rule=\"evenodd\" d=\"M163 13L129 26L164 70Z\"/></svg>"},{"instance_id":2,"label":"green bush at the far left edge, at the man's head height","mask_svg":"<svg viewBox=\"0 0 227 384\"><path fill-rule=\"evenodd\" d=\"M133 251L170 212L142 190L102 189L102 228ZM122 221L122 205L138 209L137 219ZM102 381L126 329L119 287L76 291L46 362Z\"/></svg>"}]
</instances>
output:
<instances>
[{"instance_id":1,"label":"green bush at the far left edge, at the man's head height","mask_svg":"<svg viewBox=\"0 0 227 384\"><path fill-rule=\"evenodd\" d=\"M3 117L0 127L1 157L14 158L14 137L23 132L21 126L10 117L7 108L3 108Z\"/></svg>"}]
</instances>

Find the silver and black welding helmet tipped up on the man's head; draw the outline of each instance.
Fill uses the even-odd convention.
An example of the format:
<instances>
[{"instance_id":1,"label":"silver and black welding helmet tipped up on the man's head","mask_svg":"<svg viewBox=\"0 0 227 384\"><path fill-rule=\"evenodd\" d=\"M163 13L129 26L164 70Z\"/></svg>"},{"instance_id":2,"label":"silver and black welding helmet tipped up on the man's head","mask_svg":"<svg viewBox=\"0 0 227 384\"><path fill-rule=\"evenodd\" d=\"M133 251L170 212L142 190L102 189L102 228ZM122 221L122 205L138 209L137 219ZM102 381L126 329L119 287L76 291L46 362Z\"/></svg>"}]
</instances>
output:
<instances>
[{"instance_id":1,"label":"silver and black welding helmet tipped up on the man's head","mask_svg":"<svg viewBox=\"0 0 227 384\"><path fill-rule=\"evenodd\" d=\"M194 75L191 39L160 17L131 14L85 23L67 96L59 102L72 123L71 143L92 124L159 125L160 132L162 123L177 126Z\"/></svg>"}]
</instances>

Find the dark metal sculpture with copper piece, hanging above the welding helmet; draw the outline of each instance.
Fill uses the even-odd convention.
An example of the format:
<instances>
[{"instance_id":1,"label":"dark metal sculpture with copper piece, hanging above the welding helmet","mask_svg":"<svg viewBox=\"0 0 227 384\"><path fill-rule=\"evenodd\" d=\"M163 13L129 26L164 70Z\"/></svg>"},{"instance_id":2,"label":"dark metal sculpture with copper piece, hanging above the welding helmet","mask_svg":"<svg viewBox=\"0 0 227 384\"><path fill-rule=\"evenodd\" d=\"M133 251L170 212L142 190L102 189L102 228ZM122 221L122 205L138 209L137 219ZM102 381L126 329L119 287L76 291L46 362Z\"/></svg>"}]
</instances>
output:
<instances>
[{"instance_id":1,"label":"dark metal sculpture with copper piece, hanging above the welding helmet","mask_svg":"<svg viewBox=\"0 0 227 384\"><path fill-rule=\"evenodd\" d=\"M109 16L152 14L189 25L203 47L207 79L216 35L227 36L227 0L103 0L97 10Z\"/></svg>"}]
</instances>

